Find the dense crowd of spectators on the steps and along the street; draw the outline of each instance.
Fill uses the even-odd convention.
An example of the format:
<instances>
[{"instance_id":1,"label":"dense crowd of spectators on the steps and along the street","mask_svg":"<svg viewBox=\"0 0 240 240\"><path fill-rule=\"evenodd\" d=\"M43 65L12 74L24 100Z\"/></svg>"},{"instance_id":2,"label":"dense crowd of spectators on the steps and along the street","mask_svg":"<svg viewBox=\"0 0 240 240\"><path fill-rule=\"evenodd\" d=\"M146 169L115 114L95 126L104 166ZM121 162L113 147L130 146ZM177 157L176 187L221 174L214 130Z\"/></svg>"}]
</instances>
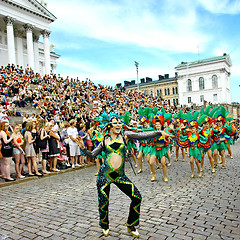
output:
<instances>
[{"instance_id":1,"label":"dense crowd of spectators on the steps and along the street","mask_svg":"<svg viewBox=\"0 0 240 240\"><path fill-rule=\"evenodd\" d=\"M178 111L177 106L170 106L157 97L145 96L124 87L106 87L96 85L90 79L63 78L59 74L41 77L31 69L15 65L0 68L0 92L0 138L6 143L12 142L14 149L19 150L13 151L11 156L19 178L24 178L26 163L30 176L41 175L36 167L38 162L42 162L44 174L59 171L58 162L63 159L67 167L87 164L90 159L84 157L75 140L81 136L87 147L92 149L89 140L93 137L94 118L102 111L114 111L119 115L129 112L133 120L138 120L139 106L159 109L164 106L166 112ZM9 126L9 119L21 116L22 109L26 107L37 110L38 114L26 114L21 122L16 120ZM19 138L22 139L21 144L18 143ZM48 140L47 146L39 148L37 143L44 139ZM11 161L5 161L4 156L0 159L2 177L12 181L9 175Z\"/></svg>"}]
</instances>

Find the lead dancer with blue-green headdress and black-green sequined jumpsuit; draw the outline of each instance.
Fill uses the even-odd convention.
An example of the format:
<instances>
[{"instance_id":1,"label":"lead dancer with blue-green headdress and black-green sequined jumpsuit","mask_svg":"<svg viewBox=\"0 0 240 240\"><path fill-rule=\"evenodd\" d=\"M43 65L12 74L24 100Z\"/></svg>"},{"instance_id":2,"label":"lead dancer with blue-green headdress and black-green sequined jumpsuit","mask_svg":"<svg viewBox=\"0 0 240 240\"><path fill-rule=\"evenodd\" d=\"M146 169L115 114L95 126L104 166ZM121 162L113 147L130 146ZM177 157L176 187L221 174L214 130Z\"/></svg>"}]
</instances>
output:
<instances>
[{"instance_id":1,"label":"lead dancer with blue-green headdress and black-green sequined jumpsuit","mask_svg":"<svg viewBox=\"0 0 240 240\"><path fill-rule=\"evenodd\" d=\"M99 224L103 229L104 236L109 235L109 221L108 221L108 205L110 184L114 183L122 192L131 198L129 216L127 220L127 230L132 233L133 237L139 237L139 233L135 228L139 224L141 194L131 180L125 175L125 159L126 146L125 143L129 139L147 139L163 135L168 136L163 131L149 131L142 133L134 133L125 131L121 133L122 124L116 114L108 116L103 113L101 116L102 122L106 125L107 132L103 141L92 152L87 150L82 139L79 140L78 145L82 151L89 157L95 158L100 152L105 151L106 158L102 164L98 177L98 205L99 205ZM99 119L100 120L100 119Z\"/></svg>"}]
</instances>

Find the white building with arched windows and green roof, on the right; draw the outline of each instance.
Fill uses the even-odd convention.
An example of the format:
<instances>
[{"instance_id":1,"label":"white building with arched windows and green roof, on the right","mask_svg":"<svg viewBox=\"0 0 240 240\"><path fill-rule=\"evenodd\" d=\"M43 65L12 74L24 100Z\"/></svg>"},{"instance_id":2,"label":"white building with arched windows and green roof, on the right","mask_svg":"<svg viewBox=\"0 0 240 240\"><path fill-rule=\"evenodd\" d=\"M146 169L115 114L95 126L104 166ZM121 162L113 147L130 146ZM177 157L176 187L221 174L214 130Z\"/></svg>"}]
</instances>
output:
<instances>
[{"instance_id":1,"label":"white building with arched windows and green roof, on the right","mask_svg":"<svg viewBox=\"0 0 240 240\"><path fill-rule=\"evenodd\" d=\"M181 62L178 74L179 104L231 103L230 67L228 54L194 62Z\"/></svg>"}]
</instances>

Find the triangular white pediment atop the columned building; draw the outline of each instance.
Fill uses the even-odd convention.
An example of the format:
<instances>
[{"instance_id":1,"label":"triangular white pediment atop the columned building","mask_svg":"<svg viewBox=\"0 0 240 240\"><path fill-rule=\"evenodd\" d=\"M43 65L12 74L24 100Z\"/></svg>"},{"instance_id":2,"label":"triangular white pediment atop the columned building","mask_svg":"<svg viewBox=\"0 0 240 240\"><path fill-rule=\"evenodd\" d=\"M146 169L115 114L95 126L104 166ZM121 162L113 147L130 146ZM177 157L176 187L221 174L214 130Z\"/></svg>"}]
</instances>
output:
<instances>
[{"instance_id":1,"label":"triangular white pediment atop the columned building","mask_svg":"<svg viewBox=\"0 0 240 240\"><path fill-rule=\"evenodd\" d=\"M17 1L0 0L0 1L12 5L16 8L28 11L34 15L38 15L44 19L48 19L51 22L56 20L56 17L37 0L17 0Z\"/></svg>"}]
</instances>

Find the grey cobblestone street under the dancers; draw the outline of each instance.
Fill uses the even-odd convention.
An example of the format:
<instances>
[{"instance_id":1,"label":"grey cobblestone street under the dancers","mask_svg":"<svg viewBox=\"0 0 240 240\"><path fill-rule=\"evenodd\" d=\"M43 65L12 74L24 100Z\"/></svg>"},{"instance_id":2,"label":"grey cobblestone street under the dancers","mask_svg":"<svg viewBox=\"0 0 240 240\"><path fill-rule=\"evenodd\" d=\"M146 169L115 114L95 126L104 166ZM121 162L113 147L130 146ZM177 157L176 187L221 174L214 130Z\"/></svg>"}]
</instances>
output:
<instances>
[{"instance_id":1,"label":"grey cobblestone street under the dancers","mask_svg":"<svg viewBox=\"0 0 240 240\"><path fill-rule=\"evenodd\" d=\"M240 141L232 146L234 159L226 169L210 171L205 157L203 177L190 179L189 161L173 162L169 182L151 182L143 173L126 174L142 197L140 239L240 239ZM180 159L181 160L181 159ZM96 166L68 171L0 188L0 239L105 239L98 226ZM111 186L110 235L133 239L126 232L130 200Z\"/></svg>"}]
</instances>

